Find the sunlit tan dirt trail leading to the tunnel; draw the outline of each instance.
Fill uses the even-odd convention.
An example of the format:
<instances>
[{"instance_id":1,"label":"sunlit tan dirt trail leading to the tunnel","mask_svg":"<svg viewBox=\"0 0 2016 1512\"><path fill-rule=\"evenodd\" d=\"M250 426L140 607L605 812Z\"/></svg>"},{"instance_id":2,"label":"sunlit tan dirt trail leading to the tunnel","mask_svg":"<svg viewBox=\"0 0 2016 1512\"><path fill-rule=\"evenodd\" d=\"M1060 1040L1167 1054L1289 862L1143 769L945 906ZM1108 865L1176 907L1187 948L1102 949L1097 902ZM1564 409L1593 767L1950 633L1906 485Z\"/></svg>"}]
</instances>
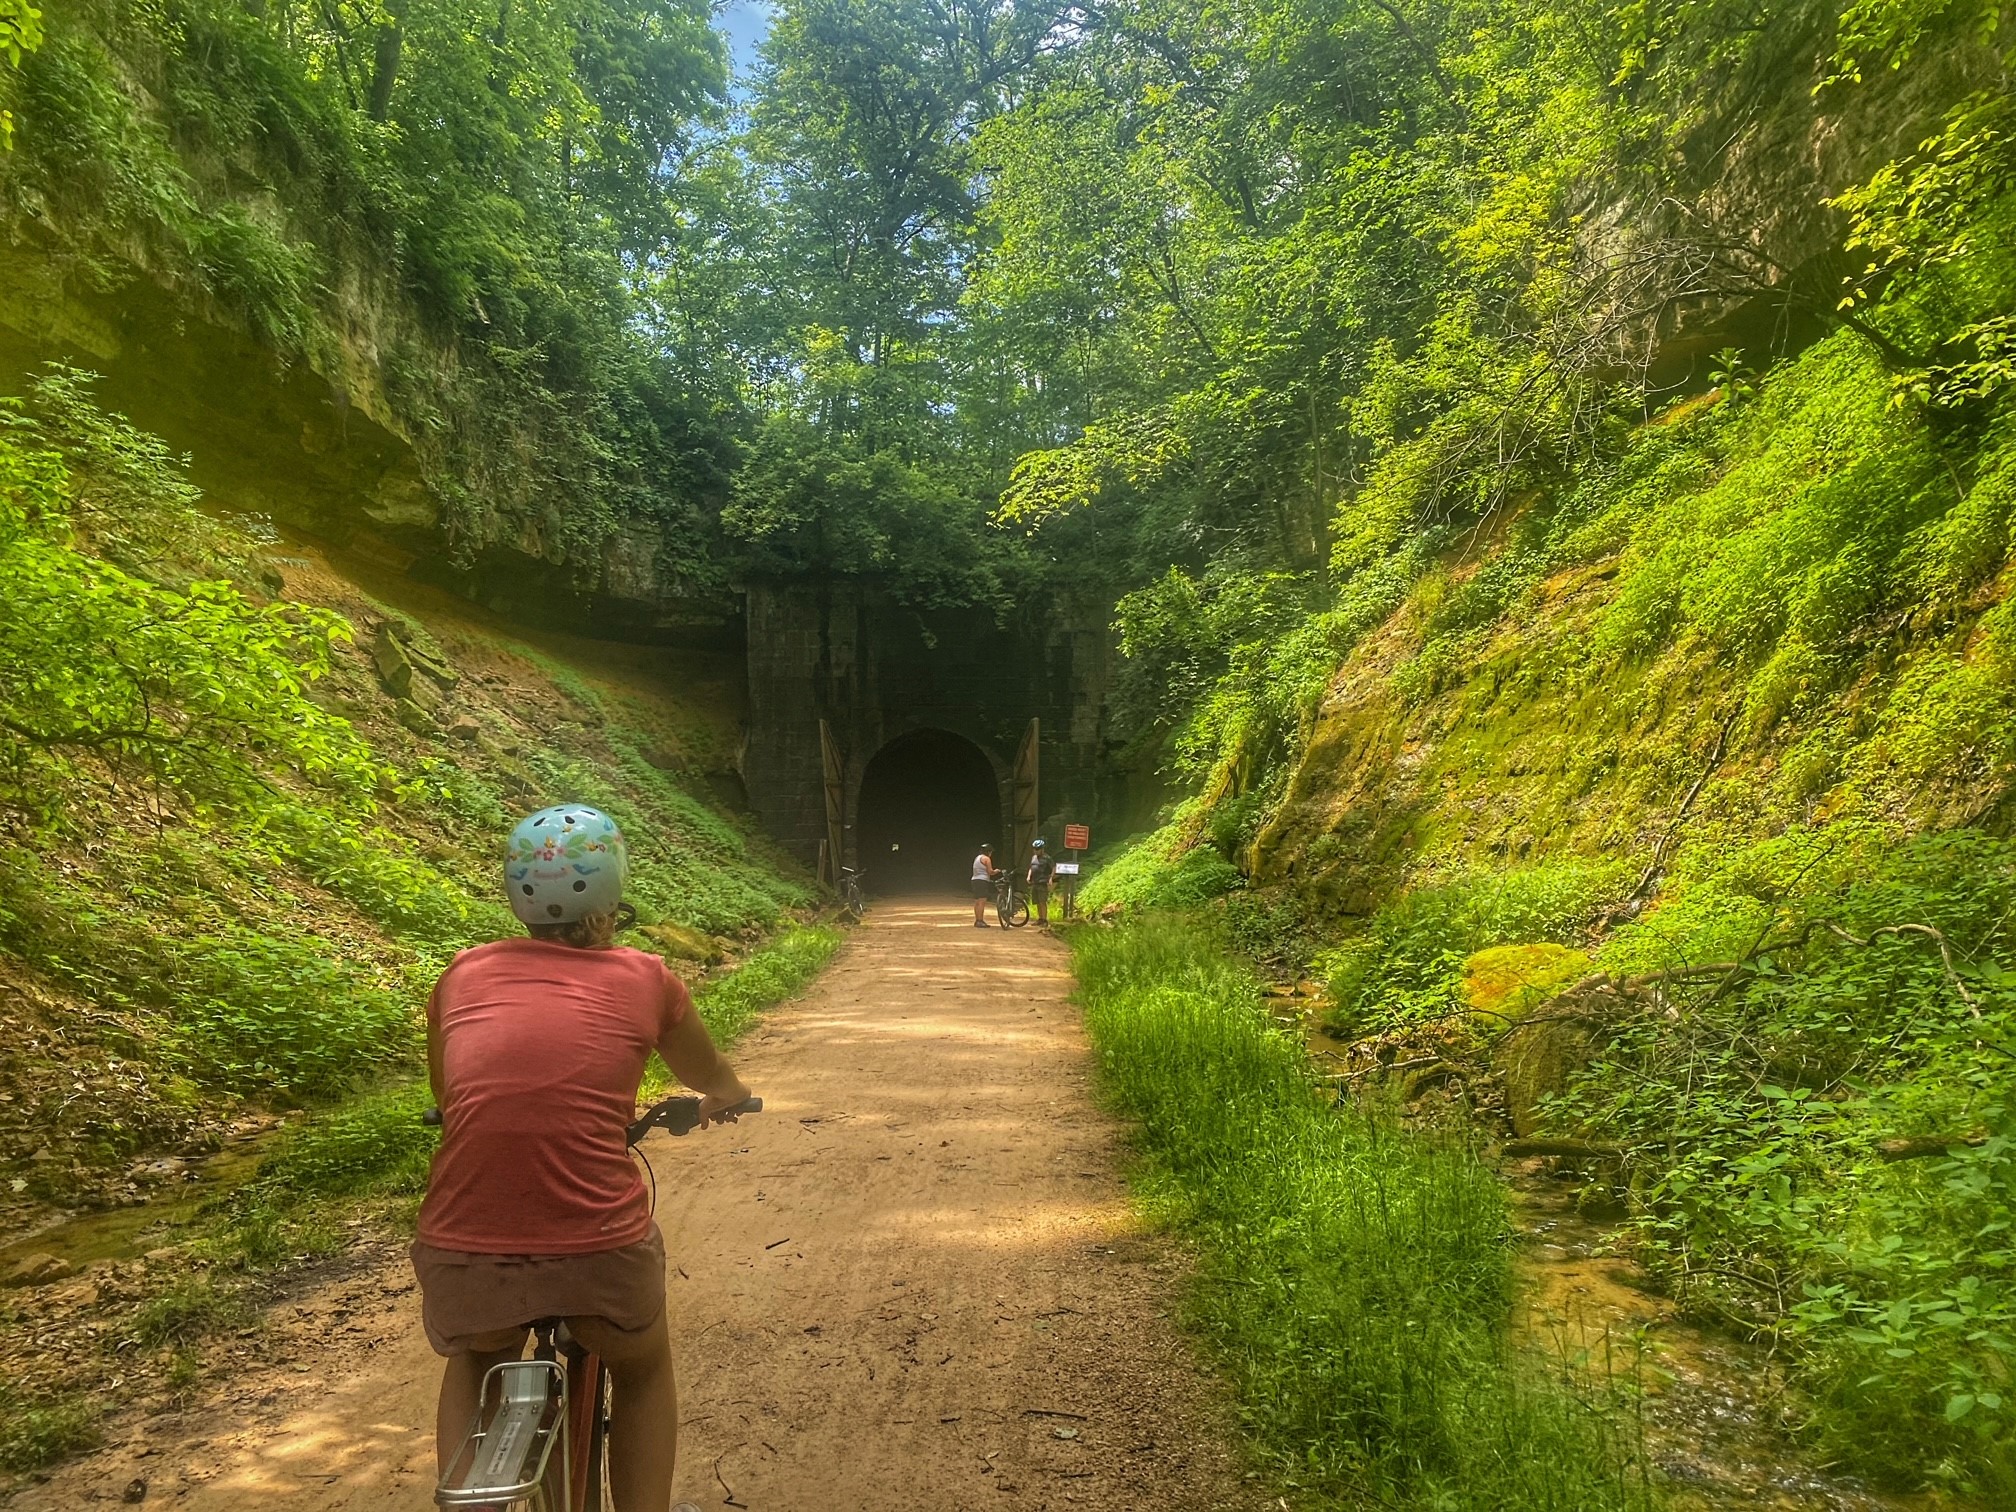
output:
<instances>
[{"instance_id":1,"label":"sunlit tan dirt trail leading to the tunnel","mask_svg":"<svg viewBox=\"0 0 2016 1512\"><path fill-rule=\"evenodd\" d=\"M681 1498L752 1512L1256 1508L1129 1218L1062 946L875 909L736 1056L766 1113L653 1135ZM325 1343L327 1341L327 1343ZM206 1405L14 1508L425 1508L437 1369L399 1262L304 1298ZM250 1343L246 1345L252 1347Z\"/></svg>"}]
</instances>

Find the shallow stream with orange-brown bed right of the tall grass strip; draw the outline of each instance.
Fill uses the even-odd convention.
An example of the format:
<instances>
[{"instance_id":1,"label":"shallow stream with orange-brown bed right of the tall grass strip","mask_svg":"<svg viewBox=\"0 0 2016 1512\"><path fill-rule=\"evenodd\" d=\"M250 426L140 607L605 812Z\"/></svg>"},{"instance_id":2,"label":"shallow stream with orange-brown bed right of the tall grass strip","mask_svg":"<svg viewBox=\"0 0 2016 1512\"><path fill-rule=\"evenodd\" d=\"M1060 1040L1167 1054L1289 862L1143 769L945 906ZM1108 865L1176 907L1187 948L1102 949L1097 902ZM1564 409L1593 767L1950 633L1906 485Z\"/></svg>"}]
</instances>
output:
<instances>
[{"instance_id":1,"label":"shallow stream with orange-brown bed right of the tall grass strip","mask_svg":"<svg viewBox=\"0 0 2016 1512\"><path fill-rule=\"evenodd\" d=\"M1268 994L1327 1070L1349 1046L1320 1028L1304 984ZM1982 1512L1943 1494L1885 1494L1816 1466L1788 1435L1786 1377L1770 1351L1681 1316L1615 1254L1615 1230L1577 1210L1579 1179L1544 1159L1502 1171L1520 1232L1514 1333L1552 1359L1627 1385L1645 1456L1673 1512Z\"/></svg>"}]
</instances>

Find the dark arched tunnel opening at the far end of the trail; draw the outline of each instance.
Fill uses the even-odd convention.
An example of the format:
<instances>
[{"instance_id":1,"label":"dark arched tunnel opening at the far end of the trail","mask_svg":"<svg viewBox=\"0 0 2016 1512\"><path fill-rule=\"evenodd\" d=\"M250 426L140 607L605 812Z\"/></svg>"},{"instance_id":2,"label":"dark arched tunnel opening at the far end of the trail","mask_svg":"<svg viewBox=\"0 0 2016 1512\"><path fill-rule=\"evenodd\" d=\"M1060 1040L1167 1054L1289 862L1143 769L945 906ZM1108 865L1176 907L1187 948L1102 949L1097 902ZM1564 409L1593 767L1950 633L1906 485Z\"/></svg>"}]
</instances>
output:
<instances>
[{"instance_id":1,"label":"dark arched tunnel opening at the far end of the trail","mask_svg":"<svg viewBox=\"0 0 2016 1512\"><path fill-rule=\"evenodd\" d=\"M855 855L875 893L954 893L982 841L1002 853L994 764L950 730L917 730L875 752L855 812Z\"/></svg>"}]
</instances>

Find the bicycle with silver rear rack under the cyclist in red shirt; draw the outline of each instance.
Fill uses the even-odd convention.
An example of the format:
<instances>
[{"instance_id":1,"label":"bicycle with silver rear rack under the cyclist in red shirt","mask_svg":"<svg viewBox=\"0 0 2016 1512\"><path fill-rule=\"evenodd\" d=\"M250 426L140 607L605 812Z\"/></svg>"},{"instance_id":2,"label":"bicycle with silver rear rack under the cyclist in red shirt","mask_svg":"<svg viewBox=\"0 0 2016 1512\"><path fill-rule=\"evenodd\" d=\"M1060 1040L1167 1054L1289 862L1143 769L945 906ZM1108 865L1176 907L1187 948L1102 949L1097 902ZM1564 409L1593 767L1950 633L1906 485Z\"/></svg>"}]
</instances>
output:
<instances>
[{"instance_id":1,"label":"bicycle with silver rear rack under the cyclist in red shirt","mask_svg":"<svg viewBox=\"0 0 2016 1512\"><path fill-rule=\"evenodd\" d=\"M744 1113L762 1113L762 1099L750 1097L720 1117ZM439 1123L439 1109L425 1119ZM637 1149L651 1129L685 1135L696 1127L700 1099L667 1097L631 1123L625 1143ZM657 1208L655 1173L651 1208ZM484 1375L476 1421L433 1488L433 1504L476 1512L611 1512L609 1371L566 1333L564 1318L530 1318L526 1329L532 1357L492 1365Z\"/></svg>"}]
</instances>

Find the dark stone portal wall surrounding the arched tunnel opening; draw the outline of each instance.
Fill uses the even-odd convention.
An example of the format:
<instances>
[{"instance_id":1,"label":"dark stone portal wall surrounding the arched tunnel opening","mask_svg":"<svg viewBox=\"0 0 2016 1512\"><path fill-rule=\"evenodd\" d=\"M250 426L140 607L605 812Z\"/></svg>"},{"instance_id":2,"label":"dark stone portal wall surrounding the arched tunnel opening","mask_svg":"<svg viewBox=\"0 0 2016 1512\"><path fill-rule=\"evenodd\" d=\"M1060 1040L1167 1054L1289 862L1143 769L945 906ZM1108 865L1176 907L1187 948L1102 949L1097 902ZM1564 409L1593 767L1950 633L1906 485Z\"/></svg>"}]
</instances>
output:
<instances>
[{"instance_id":1,"label":"dark stone portal wall surrounding the arched tunnel opening","mask_svg":"<svg viewBox=\"0 0 2016 1512\"><path fill-rule=\"evenodd\" d=\"M1044 835L1058 845L1064 821L1097 827L1123 812L1125 796L1105 748L1111 619L1111 605L1095 599L1030 601L998 621L990 609L919 611L869 583L748 585L750 806L792 855L816 863L827 833L818 748L827 720L843 762L853 863L869 762L905 734L948 730L978 746L1000 776L1006 843L1006 778L1036 718Z\"/></svg>"}]
</instances>

